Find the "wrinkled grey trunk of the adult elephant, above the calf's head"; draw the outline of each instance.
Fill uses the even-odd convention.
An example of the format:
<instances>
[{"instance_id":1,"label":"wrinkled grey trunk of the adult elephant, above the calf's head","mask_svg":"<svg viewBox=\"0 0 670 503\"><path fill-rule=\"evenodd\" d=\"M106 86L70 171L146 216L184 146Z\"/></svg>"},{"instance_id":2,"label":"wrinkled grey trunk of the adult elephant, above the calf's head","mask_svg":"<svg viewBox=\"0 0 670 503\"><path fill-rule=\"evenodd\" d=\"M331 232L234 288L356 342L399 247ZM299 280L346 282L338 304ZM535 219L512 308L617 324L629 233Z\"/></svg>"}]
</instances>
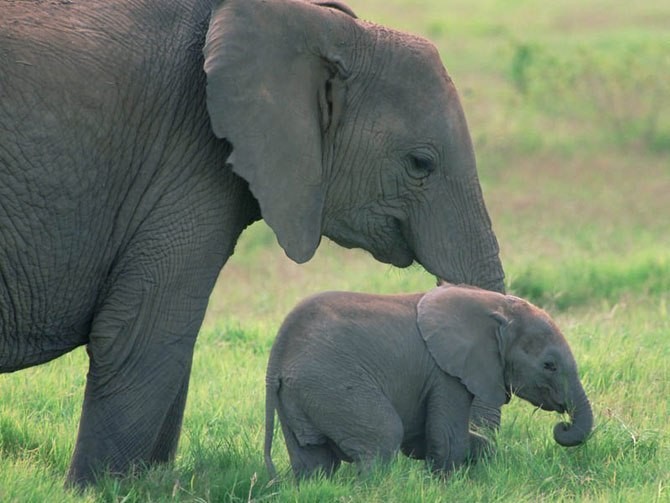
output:
<instances>
[{"instance_id":1,"label":"wrinkled grey trunk of the adult elephant, above the calf's head","mask_svg":"<svg viewBox=\"0 0 670 503\"><path fill-rule=\"evenodd\" d=\"M453 82L441 113L448 167L435 173L431 190L412 206L405 237L418 262L431 274L451 283L467 283L505 292L499 247L481 185L467 121Z\"/></svg>"}]
</instances>

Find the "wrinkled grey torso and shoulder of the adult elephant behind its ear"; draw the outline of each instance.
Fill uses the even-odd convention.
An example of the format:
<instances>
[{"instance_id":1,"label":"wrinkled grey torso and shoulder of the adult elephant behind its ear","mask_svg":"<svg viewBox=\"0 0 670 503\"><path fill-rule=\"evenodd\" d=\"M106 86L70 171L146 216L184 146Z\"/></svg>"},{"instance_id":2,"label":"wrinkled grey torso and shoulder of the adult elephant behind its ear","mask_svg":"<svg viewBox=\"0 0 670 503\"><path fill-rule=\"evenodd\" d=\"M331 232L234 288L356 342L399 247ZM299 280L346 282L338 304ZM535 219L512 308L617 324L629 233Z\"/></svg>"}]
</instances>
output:
<instances>
[{"instance_id":1,"label":"wrinkled grey torso and shoulder of the adult elephant behind its ear","mask_svg":"<svg viewBox=\"0 0 670 503\"><path fill-rule=\"evenodd\" d=\"M136 4L3 5L0 333L21 341L3 371L88 342L129 269L170 284L191 264L179 274L203 283L202 303L256 218L223 168L230 145L209 129L198 49L209 9L161 9L153 26Z\"/></svg>"}]
</instances>

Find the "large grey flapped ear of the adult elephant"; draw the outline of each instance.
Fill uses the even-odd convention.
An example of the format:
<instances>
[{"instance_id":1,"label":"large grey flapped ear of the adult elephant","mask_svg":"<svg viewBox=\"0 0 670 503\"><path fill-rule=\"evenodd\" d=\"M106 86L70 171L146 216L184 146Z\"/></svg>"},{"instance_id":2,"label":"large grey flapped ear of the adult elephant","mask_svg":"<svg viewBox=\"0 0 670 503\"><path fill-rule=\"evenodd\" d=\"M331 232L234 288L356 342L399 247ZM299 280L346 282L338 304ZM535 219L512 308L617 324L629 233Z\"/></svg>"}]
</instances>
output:
<instances>
[{"instance_id":1,"label":"large grey flapped ear of the adult elephant","mask_svg":"<svg viewBox=\"0 0 670 503\"><path fill-rule=\"evenodd\" d=\"M233 170L296 262L321 239L324 139L344 99L345 65L334 51L353 19L327 7L226 0L212 12L204 47L214 134L232 144Z\"/></svg>"}]
</instances>

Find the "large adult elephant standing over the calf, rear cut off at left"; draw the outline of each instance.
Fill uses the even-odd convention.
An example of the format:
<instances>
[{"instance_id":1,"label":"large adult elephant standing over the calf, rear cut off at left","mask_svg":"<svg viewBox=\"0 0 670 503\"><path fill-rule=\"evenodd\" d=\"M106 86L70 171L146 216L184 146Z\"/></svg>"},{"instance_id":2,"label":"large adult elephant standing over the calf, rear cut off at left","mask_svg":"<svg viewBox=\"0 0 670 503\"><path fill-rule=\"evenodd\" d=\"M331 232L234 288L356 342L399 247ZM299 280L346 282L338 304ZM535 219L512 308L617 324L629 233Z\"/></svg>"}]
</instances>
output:
<instances>
[{"instance_id":1,"label":"large adult elephant standing over the calf, rear cut off at left","mask_svg":"<svg viewBox=\"0 0 670 503\"><path fill-rule=\"evenodd\" d=\"M0 371L87 345L70 482L173 457L208 296L255 220L296 262L325 235L503 289L428 42L336 2L0 9Z\"/></svg>"}]
</instances>

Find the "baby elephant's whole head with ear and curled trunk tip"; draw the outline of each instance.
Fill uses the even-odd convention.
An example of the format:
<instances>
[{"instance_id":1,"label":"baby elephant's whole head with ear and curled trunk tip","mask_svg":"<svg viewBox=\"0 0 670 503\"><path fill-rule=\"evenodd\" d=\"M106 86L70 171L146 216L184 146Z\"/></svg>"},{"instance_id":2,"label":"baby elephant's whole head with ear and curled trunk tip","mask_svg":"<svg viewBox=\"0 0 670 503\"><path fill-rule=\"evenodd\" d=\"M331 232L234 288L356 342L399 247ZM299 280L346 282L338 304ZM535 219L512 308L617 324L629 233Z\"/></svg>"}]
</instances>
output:
<instances>
[{"instance_id":1,"label":"baby elephant's whole head with ear and curled trunk tip","mask_svg":"<svg viewBox=\"0 0 670 503\"><path fill-rule=\"evenodd\" d=\"M593 413L565 337L549 315L525 300L471 287L441 286L419 302L418 325L437 365L491 407L509 393L544 410L567 412L554 428L561 445L578 445Z\"/></svg>"}]
</instances>

